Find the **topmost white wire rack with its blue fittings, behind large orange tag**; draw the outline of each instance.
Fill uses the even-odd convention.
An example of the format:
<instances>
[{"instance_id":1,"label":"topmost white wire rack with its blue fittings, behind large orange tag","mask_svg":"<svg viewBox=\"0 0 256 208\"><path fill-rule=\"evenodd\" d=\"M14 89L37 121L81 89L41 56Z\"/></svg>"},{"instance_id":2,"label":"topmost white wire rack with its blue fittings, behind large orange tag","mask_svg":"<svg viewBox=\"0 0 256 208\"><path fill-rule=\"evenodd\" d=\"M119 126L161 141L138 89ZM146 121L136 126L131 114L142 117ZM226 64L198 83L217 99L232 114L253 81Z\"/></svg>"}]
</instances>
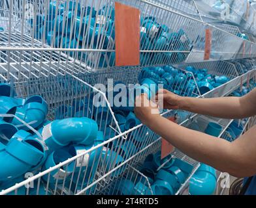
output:
<instances>
[{"instance_id":1,"label":"topmost white wire rack with its blue fittings, behind large orange tag","mask_svg":"<svg viewBox=\"0 0 256 208\"><path fill-rule=\"evenodd\" d=\"M172 1L172 3L168 2L169 7L167 1L123 0L120 2L140 9L142 27L151 28L148 23L146 24L150 21L150 25L154 25L159 30L159 35L152 36L150 28L146 28L146 34L142 29L140 50L142 66L204 60L206 28L212 30L210 59L251 57L256 51L252 42L244 41L229 32L207 25L202 20L191 18L181 12L195 12L198 16L193 1ZM29 9L32 12L27 12ZM39 54L47 51L47 54L52 57L52 53L61 51L67 54L67 58L73 57L89 69L114 66L114 1L35 2L27 0L10 1L10 3L3 1L0 10L3 10L3 18L8 18L8 21L2 21L4 28L2 36L3 39L8 40L1 47L4 56L5 53L14 53L14 51L15 53L35 51ZM98 21L101 18L104 19L103 22ZM195 29L197 32L194 32ZM11 31L15 31L16 35L20 36L20 41L10 37ZM26 41L28 36L31 40ZM29 44L26 44L27 42ZM17 56L21 56L21 60L17 62L23 62L24 56ZM30 60L30 62L33 61ZM67 69L56 68L55 70L65 72Z\"/></svg>"}]
</instances>

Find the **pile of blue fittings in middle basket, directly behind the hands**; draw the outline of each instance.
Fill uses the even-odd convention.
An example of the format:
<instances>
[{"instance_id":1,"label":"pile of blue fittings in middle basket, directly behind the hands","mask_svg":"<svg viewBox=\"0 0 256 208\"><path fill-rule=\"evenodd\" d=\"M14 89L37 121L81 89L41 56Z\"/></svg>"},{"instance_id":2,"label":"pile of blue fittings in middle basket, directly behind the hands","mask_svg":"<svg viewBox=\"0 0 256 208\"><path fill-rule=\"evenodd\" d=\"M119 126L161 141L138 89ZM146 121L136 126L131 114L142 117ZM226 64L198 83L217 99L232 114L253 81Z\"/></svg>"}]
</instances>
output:
<instances>
[{"instance_id":1,"label":"pile of blue fittings in middle basket, directly behind the hands","mask_svg":"<svg viewBox=\"0 0 256 208\"><path fill-rule=\"evenodd\" d=\"M172 66L143 68L138 79L150 78L158 85L163 85L163 88L181 96L196 96L197 90L200 94L205 94L229 81L225 75L211 75L206 68L187 66L185 70L189 73Z\"/></svg>"}]
</instances>

